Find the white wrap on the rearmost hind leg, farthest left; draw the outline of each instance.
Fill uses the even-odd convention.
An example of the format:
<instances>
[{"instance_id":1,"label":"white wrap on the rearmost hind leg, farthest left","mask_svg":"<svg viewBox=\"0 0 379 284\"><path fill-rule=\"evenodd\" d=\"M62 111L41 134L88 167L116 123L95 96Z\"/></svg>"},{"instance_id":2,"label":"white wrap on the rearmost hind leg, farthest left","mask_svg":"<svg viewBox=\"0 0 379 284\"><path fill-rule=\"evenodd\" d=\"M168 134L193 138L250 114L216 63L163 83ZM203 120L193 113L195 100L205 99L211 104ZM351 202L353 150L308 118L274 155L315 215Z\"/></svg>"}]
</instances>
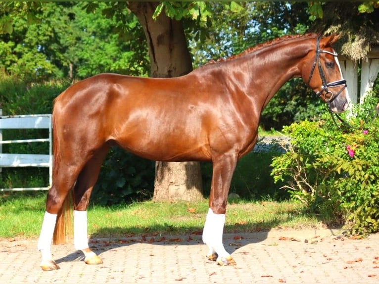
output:
<instances>
[{"instance_id":1,"label":"white wrap on the rearmost hind leg, farthest left","mask_svg":"<svg viewBox=\"0 0 379 284\"><path fill-rule=\"evenodd\" d=\"M44 221L42 223L41 234L38 240L38 250L42 253L42 259L51 259L50 246L52 235L54 234L56 214L45 212Z\"/></svg>"}]
</instances>

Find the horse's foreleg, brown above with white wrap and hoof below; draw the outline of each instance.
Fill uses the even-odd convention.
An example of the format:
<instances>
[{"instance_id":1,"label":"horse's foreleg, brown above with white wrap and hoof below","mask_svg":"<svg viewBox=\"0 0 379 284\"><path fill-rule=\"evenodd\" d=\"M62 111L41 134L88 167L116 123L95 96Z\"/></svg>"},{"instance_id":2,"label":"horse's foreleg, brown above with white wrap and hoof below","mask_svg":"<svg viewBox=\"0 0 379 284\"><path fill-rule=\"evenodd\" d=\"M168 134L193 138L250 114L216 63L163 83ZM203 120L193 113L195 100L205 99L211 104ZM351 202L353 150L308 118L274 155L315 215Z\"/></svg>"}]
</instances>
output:
<instances>
[{"instance_id":1,"label":"horse's foreleg, brown above with white wrap and hoof below","mask_svg":"<svg viewBox=\"0 0 379 284\"><path fill-rule=\"evenodd\" d=\"M212 186L203 241L209 248L208 259L217 261L219 265L236 265L222 242L229 187L236 165L236 155L223 155L213 160Z\"/></svg>"}]
</instances>

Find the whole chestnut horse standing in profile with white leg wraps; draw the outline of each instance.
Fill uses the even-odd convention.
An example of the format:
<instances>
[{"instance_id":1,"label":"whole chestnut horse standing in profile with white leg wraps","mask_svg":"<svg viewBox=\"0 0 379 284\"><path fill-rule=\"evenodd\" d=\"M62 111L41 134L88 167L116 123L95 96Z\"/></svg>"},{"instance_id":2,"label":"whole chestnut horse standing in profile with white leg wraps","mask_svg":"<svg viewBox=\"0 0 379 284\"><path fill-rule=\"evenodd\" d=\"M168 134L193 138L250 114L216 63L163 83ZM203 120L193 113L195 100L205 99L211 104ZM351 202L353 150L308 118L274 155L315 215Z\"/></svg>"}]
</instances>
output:
<instances>
[{"instance_id":1,"label":"whole chestnut horse standing in profile with white leg wraps","mask_svg":"<svg viewBox=\"0 0 379 284\"><path fill-rule=\"evenodd\" d=\"M53 180L38 242L42 269L59 268L50 245L53 237L57 243L64 227L59 220L64 220L60 217L69 192L74 247L83 251L85 263L102 263L88 245L86 210L100 165L113 145L151 160L211 161L203 241L209 259L236 264L222 239L237 161L257 142L263 108L291 78L302 77L331 111L347 109L346 81L332 48L337 39L286 36L177 78L99 74L65 90L55 99L52 115Z\"/></svg>"}]
</instances>

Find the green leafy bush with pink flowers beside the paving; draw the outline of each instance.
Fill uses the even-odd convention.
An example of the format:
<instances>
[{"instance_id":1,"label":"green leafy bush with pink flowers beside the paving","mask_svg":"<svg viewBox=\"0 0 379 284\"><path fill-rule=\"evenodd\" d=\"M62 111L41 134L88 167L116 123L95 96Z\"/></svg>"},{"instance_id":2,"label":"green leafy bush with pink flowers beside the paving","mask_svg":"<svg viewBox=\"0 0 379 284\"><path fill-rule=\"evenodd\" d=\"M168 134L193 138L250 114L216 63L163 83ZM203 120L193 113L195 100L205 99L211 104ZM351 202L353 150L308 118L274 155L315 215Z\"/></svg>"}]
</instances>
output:
<instances>
[{"instance_id":1,"label":"green leafy bush with pink flowers beside the paving","mask_svg":"<svg viewBox=\"0 0 379 284\"><path fill-rule=\"evenodd\" d=\"M352 234L379 232L377 103L370 94L344 114L349 129L327 116L284 127L291 143L272 163L274 180L290 181L285 188L291 198L339 216Z\"/></svg>"}]
</instances>

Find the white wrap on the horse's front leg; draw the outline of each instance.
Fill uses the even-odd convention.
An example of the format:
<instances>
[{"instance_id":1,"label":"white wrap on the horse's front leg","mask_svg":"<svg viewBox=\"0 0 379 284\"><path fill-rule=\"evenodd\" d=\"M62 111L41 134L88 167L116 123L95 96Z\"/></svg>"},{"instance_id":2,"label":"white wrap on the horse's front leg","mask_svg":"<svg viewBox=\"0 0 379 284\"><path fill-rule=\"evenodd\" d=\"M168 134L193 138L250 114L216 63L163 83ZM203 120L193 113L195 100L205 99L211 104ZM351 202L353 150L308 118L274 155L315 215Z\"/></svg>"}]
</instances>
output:
<instances>
[{"instance_id":1,"label":"white wrap on the horse's front leg","mask_svg":"<svg viewBox=\"0 0 379 284\"><path fill-rule=\"evenodd\" d=\"M229 256L222 244L224 232L225 214L215 214L208 209L203 230L203 242L209 247L209 254L216 252L220 257Z\"/></svg>"}]
</instances>

